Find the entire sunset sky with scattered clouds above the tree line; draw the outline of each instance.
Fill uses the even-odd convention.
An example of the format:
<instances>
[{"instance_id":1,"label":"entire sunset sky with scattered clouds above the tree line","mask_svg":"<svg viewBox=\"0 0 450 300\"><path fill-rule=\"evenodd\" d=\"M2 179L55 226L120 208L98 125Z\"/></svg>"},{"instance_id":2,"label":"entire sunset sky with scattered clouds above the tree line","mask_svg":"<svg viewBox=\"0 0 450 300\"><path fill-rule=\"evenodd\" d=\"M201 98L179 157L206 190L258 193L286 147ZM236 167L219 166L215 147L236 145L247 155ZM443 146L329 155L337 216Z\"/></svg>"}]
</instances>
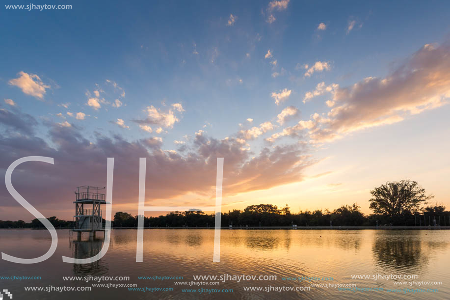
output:
<instances>
[{"instance_id":1,"label":"entire sunset sky with scattered clouds above the tree line","mask_svg":"<svg viewBox=\"0 0 450 300\"><path fill-rule=\"evenodd\" d=\"M44 216L72 219L75 187L113 213L358 203L418 181L450 208L447 1L60 1L0 18L0 175ZM3 3L2 3L3 5ZM30 220L0 185L0 219Z\"/></svg>"}]
</instances>

